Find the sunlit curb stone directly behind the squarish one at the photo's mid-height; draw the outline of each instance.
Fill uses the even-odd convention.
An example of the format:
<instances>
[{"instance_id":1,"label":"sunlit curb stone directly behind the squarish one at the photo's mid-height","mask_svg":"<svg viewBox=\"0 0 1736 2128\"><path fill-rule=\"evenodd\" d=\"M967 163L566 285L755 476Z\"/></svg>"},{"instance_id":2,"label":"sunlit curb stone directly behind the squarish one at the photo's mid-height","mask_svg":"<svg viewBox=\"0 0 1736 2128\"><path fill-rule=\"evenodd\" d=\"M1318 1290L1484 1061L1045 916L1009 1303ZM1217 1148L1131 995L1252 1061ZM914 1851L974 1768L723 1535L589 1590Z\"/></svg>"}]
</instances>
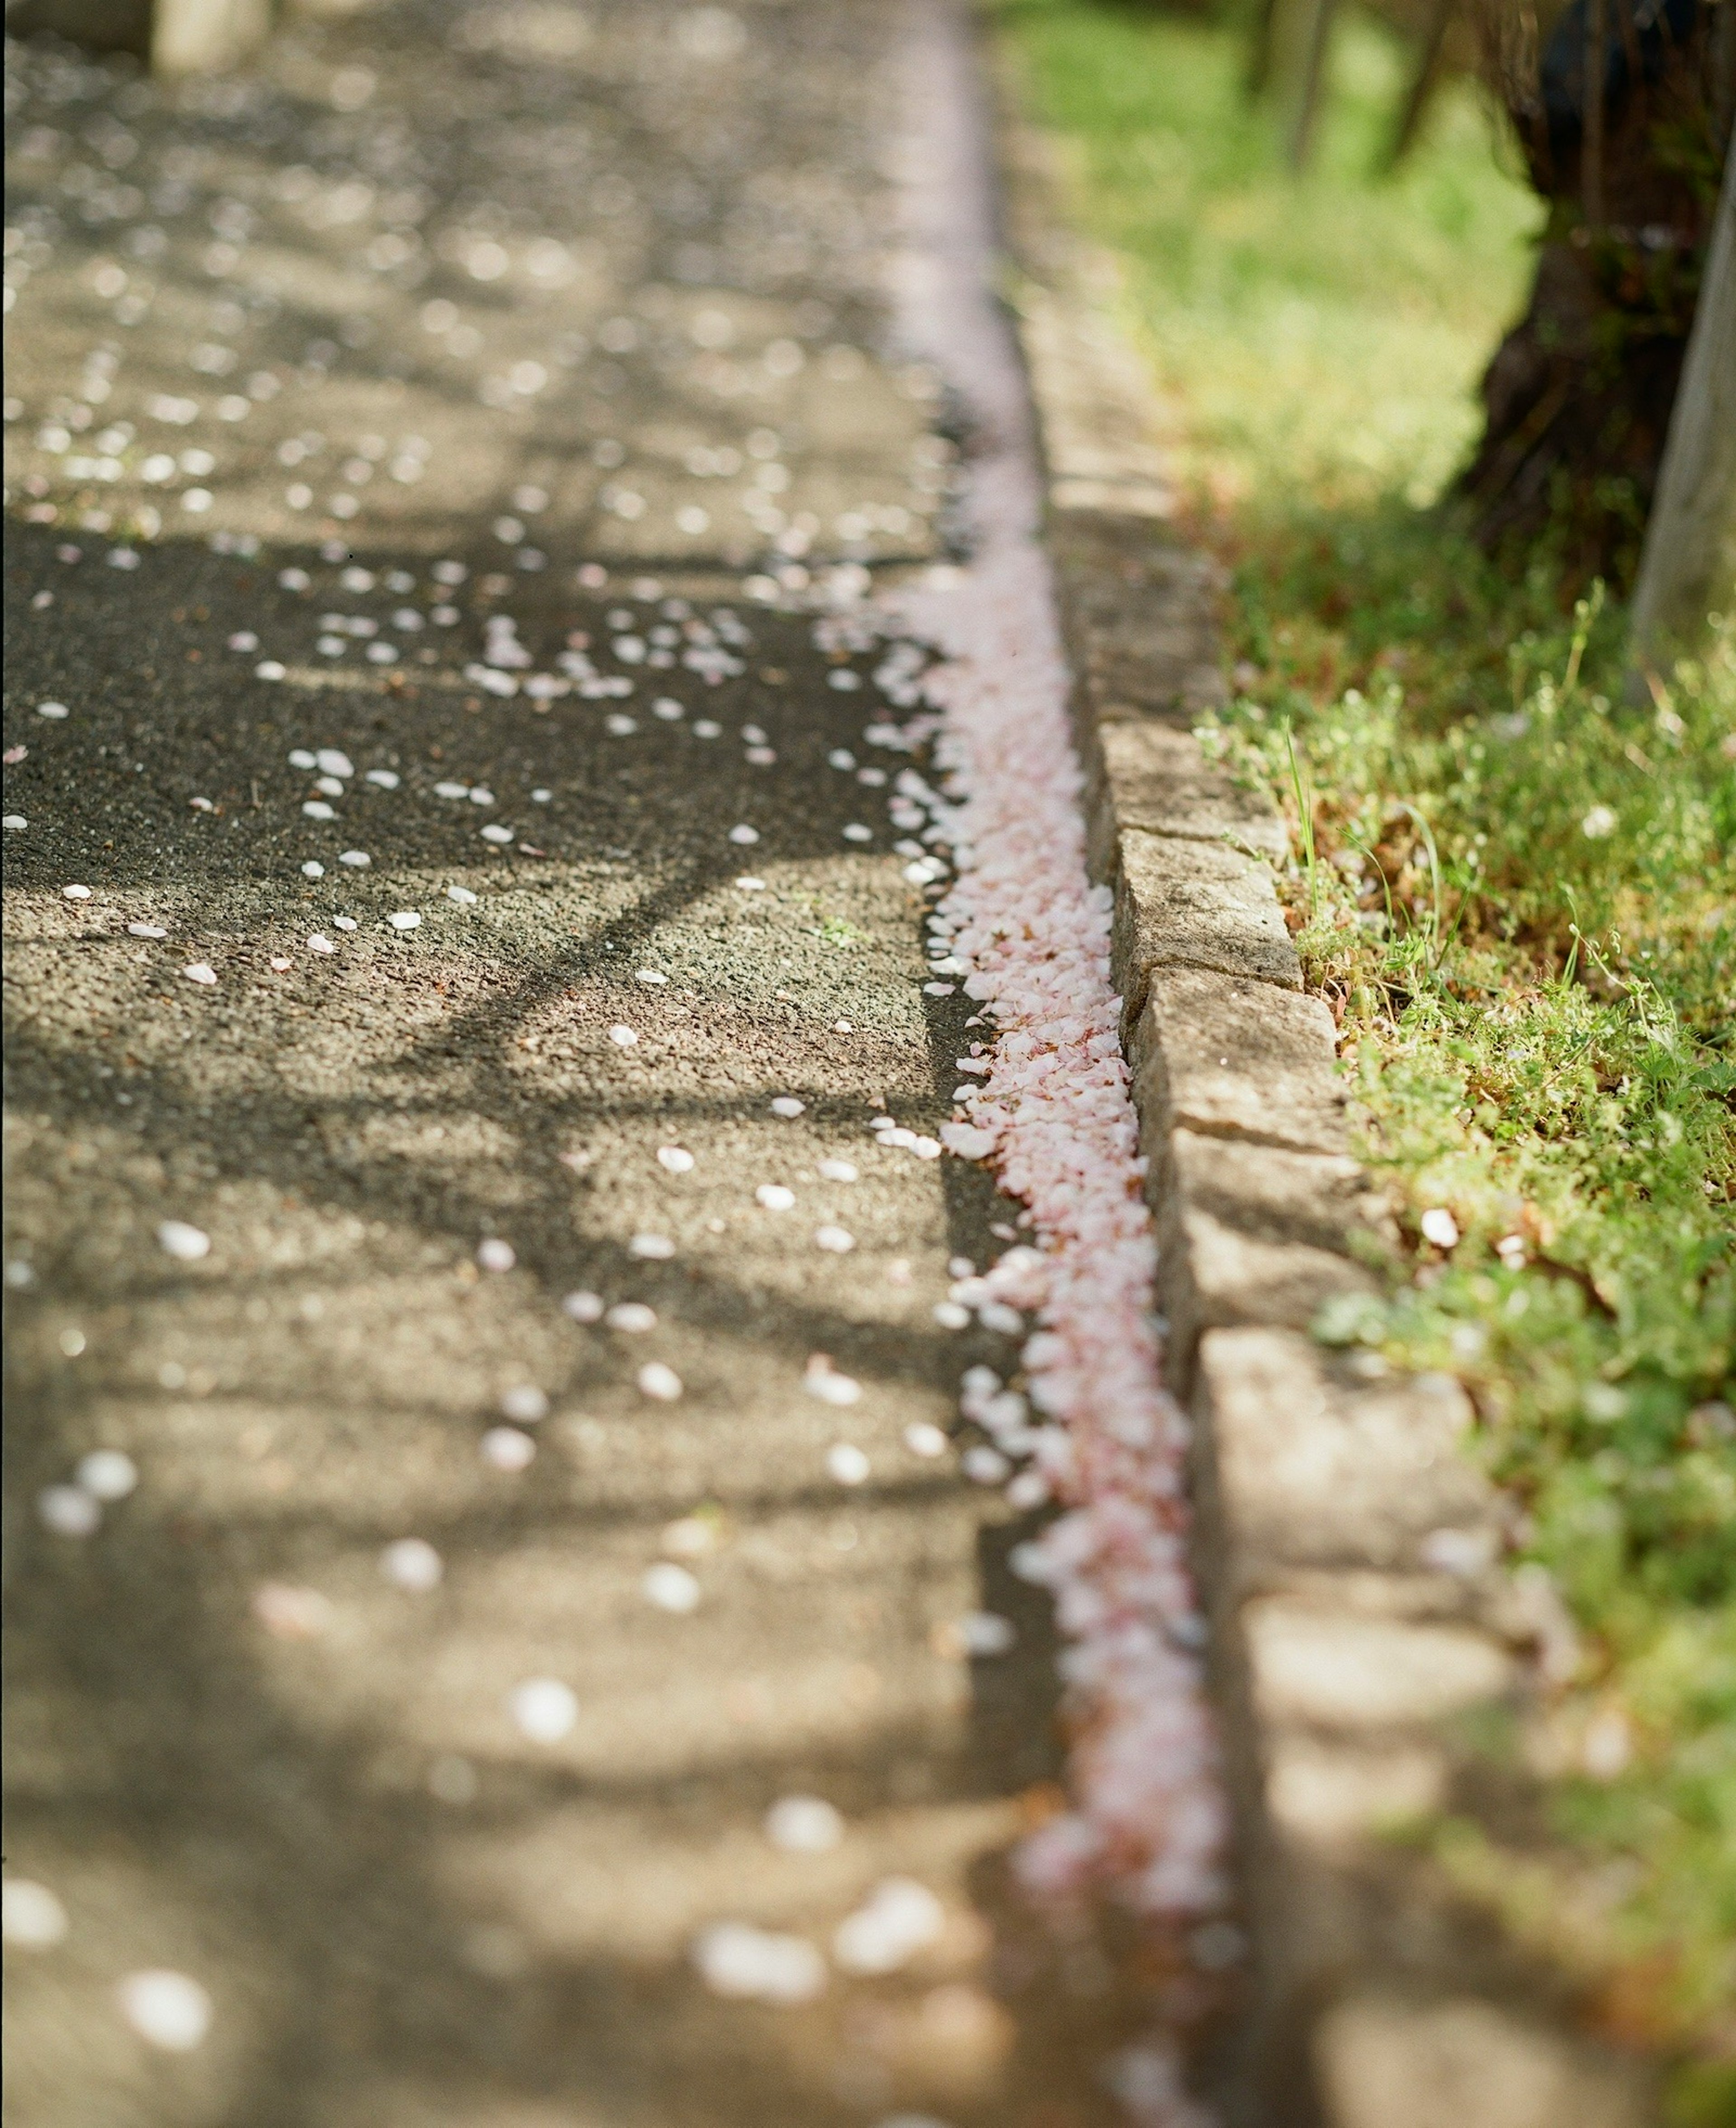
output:
<instances>
[{"instance_id":1,"label":"sunlit curb stone directly behind the squarish one at the photo's mid-height","mask_svg":"<svg viewBox=\"0 0 1736 2128\"><path fill-rule=\"evenodd\" d=\"M1272 875L1234 849L1128 828L1115 883L1115 979L1123 1028L1145 1011L1153 968L1215 968L1302 987Z\"/></svg>"}]
</instances>

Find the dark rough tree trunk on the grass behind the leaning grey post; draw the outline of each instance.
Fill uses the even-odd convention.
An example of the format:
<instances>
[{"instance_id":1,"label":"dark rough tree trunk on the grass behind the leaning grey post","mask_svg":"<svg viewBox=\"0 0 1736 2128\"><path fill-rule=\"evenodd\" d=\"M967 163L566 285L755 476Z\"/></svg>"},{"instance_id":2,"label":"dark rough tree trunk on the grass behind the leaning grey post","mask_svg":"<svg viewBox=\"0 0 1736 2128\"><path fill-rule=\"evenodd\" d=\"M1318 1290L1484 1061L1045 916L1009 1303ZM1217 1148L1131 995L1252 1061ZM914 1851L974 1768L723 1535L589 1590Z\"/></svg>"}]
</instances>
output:
<instances>
[{"instance_id":1,"label":"dark rough tree trunk on the grass behind the leaning grey post","mask_svg":"<svg viewBox=\"0 0 1736 2128\"><path fill-rule=\"evenodd\" d=\"M1574 0L1513 111L1549 221L1462 481L1496 553L1634 575L1713 228L1732 9Z\"/></svg>"}]
</instances>

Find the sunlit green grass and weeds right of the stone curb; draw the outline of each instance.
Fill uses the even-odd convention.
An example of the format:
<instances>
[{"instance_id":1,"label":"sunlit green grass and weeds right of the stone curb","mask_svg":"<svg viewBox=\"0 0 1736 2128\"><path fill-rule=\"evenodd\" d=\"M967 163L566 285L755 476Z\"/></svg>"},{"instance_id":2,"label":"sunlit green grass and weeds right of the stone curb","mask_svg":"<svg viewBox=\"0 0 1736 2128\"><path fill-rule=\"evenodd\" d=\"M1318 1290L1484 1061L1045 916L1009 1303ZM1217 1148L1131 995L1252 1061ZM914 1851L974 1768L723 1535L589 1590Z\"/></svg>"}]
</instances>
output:
<instances>
[{"instance_id":1,"label":"sunlit green grass and weeds right of the stone curb","mask_svg":"<svg viewBox=\"0 0 1736 2128\"><path fill-rule=\"evenodd\" d=\"M1549 1836L1481 1881L1500 1905L1545 1871L1525 1926L1676 2054L1672 2119L1710 2128L1736 2117L1736 626L1630 706L1619 604L1547 558L1506 581L1440 500L1542 219L1470 89L1374 181L1402 53L1353 15L1296 183L1211 17L998 19L1232 564L1204 738L1291 819L1281 894L1398 1213L1385 1298L1317 1332L1466 1385L1517 1553L1579 1626L1532 1743ZM1472 1847L1442 1828L1476 1877Z\"/></svg>"}]
</instances>

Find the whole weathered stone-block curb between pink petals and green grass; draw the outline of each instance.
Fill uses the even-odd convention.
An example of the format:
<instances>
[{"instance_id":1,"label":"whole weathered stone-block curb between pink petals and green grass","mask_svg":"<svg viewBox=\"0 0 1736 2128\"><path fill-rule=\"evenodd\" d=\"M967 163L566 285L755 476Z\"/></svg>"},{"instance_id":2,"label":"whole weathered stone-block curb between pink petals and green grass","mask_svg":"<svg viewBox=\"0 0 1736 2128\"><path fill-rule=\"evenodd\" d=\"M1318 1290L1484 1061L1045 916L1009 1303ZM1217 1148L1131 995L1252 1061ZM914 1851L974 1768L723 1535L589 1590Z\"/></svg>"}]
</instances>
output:
<instances>
[{"instance_id":1,"label":"whole weathered stone-block curb between pink petals and green grass","mask_svg":"<svg viewBox=\"0 0 1736 2128\"><path fill-rule=\"evenodd\" d=\"M1191 732L1223 698L1219 572L1168 528L1164 409L1113 264L1066 232L1042 138L1004 121L1000 162L1253 1936L1215 2096L1234 2128L1638 2128L1634 2064L1393 1836L1476 1809L1472 1730L1523 1728L1570 1628L1496 1564L1459 1385L1370 1379L1306 1334L1372 1290L1353 1236L1381 1209L1274 892L1283 824Z\"/></svg>"}]
</instances>

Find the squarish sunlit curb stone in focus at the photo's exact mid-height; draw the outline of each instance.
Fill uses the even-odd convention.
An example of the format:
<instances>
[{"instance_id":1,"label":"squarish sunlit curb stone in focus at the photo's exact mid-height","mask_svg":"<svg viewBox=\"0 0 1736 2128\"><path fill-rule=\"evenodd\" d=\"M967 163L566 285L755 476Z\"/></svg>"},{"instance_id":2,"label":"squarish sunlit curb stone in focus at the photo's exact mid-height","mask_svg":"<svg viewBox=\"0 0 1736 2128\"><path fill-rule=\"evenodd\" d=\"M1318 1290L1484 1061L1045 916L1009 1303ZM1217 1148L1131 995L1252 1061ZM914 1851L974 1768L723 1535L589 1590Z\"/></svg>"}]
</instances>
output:
<instances>
[{"instance_id":1,"label":"squarish sunlit curb stone in focus at the photo's exact mid-height","mask_svg":"<svg viewBox=\"0 0 1736 2128\"><path fill-rule=\"evenodd\" d=\"M1319 998L1204 968L1153 968L1130 1055L1153 1141L1191 1130L1298 1153L1345 1151L1345 1085Z\"/></svg>"}]
</instances>

